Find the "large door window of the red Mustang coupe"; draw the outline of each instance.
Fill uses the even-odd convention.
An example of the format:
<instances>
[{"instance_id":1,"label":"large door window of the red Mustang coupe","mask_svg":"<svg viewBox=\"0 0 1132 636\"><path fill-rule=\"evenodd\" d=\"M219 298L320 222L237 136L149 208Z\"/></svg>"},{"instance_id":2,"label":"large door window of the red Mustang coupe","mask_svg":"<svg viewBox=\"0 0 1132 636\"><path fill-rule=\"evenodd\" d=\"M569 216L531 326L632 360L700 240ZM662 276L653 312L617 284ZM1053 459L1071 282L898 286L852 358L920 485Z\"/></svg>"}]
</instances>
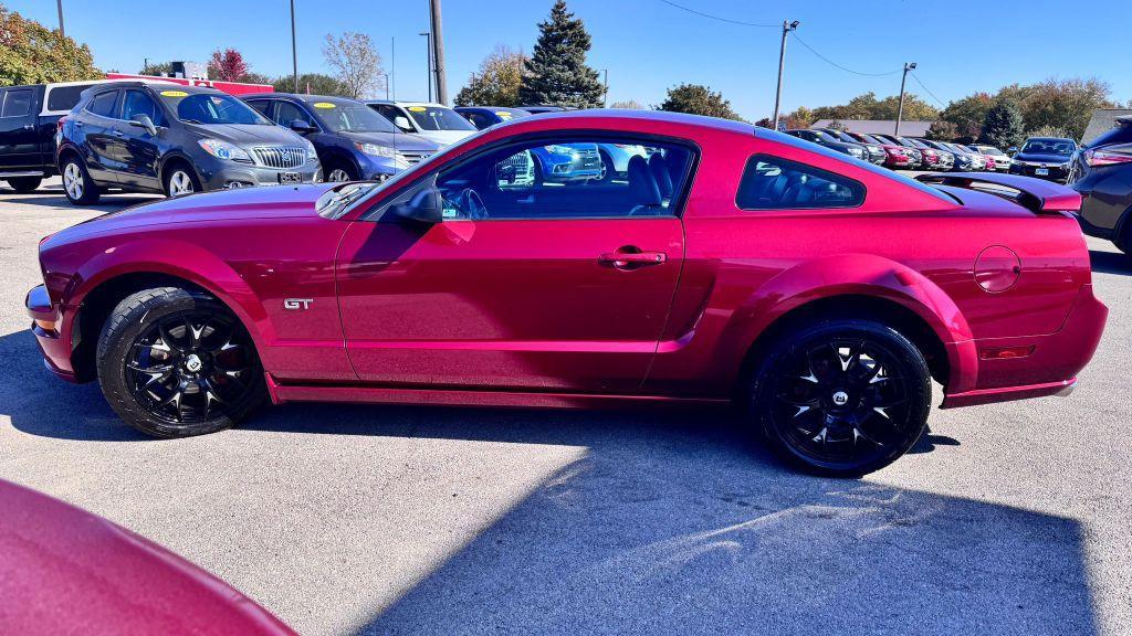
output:
<instances>
[{"instance_id":1,"label":"large door window of the red Mustang coupe","mask_svg":"<svg viewBox=\"0 0 1132 636\"><path fill-rule=\"evenodd\" d=\"M677 216L693 157L679 144L564 136L488 151L437 188L453 220Z\"/></svg>"}]
</instances>

